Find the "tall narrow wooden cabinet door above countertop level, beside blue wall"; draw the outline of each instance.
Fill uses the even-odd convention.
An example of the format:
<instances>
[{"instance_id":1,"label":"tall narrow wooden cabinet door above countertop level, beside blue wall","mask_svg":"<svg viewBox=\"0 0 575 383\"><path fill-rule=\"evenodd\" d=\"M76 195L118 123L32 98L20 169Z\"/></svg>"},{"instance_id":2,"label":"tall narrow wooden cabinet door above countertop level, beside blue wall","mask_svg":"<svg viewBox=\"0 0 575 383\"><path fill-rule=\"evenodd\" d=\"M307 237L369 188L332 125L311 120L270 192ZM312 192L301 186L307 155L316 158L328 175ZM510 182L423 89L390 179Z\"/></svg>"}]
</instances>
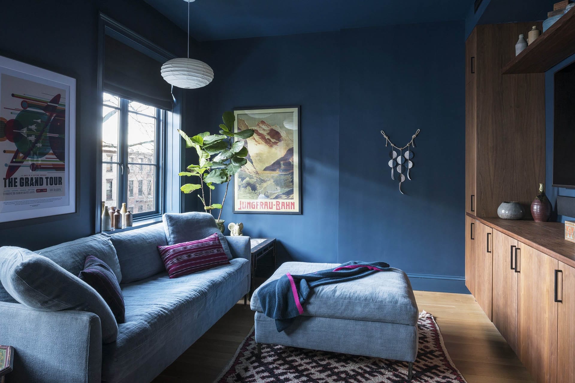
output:
<instances>
[{"instance_id":1,"label":"tall narrow wooden cabinet door above countertop level, beside blue wall","mask_svg":"<svg viewBox=\"0 0 575 383\"><path fill-rule=\"evenodd\" d=\"M476 214L477 167L477 31L473 30L465 43L465 211Z\"/></svg>"}]
</instances>

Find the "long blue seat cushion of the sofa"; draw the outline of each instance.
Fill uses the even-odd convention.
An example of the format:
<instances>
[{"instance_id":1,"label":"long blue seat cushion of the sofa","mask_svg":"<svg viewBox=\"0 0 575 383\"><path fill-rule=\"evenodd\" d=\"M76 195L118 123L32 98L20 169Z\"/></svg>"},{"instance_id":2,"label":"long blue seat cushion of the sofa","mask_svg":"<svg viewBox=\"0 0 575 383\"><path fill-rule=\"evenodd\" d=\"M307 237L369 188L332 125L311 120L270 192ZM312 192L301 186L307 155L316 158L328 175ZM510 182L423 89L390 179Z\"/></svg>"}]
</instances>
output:
<instances>
[{"instance_id":1,"label":"long blue seat cushion of the sofa","mask_svg":"<svg viewBox=\"0 0 575 383\"><path fill-rule=\"evenodd\" d=\"M162 273L121 285L126 319L118 326L117 342L104 346L102 381L150 380L217 322L249 286L250 262L244 259L175 279Z\"/></svg>"}]
</instances>

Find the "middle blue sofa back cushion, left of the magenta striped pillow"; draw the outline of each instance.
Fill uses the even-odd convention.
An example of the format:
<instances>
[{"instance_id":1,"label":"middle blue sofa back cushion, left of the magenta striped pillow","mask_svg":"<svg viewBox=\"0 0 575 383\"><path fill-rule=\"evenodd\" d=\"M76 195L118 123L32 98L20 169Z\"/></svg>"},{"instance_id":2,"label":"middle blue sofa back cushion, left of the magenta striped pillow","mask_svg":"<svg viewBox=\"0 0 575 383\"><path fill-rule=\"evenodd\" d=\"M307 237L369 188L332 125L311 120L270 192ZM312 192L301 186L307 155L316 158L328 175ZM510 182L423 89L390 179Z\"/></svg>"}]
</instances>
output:
<instances>
[{"instance_id":1,"label":"middle blue sofa back cushion, left of the magenta striped pillow","mask_svg":"<svg viewBox=\"0 0 575 383\"><path fill-rule=\"evenodd\" d=\"M110 239L120 262L122 283L139 281L166 270L156 247L168 244L163 223L112 234Z\"/></svg>"}]
</instances>

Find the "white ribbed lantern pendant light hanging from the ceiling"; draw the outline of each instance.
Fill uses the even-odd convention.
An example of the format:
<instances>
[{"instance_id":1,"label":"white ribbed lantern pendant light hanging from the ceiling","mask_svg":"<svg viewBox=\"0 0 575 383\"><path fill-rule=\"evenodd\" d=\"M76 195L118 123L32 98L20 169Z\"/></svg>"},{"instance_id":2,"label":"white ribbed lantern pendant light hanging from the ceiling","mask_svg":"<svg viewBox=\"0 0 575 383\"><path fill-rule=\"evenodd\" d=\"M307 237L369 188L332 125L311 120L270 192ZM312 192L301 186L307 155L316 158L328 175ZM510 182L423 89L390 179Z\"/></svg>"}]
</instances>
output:
<instances>
[{"instance_id":1,"label":"white ribbed lantern pendant light hanging from the ceiling","mask_svg":"<svg viewBox=\"0 0 575 383\"><path fill-rule=\"evenodd\" d=\"M212 82L214 71L204 61L190 59L190 2L187 2L187 59L178 58L166 61L162 65L164 80L178 88L201 88Z\"/></svg>"}]
</instances>

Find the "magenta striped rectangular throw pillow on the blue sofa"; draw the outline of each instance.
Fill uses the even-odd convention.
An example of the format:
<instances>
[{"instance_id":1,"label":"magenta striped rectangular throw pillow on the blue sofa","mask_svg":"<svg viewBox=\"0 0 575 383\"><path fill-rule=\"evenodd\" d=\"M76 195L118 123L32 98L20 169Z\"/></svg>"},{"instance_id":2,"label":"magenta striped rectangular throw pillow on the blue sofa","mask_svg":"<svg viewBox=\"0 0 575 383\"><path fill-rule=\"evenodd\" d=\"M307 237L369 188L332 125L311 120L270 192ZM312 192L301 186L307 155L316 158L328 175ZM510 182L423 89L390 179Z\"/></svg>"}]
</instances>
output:
<instances>
[{"instance_id":1,"label":"magenta striped rectangular throw pillow on the blue sofa","mask_svg":"<svg viewBox=\"0 0 575 383\"><path fill-rule=\"evenodd\" d=\"M198 241L158 246L158 251L170 278L229 265L228 256L217 233Z\"/></svg>"}]
</instances>

